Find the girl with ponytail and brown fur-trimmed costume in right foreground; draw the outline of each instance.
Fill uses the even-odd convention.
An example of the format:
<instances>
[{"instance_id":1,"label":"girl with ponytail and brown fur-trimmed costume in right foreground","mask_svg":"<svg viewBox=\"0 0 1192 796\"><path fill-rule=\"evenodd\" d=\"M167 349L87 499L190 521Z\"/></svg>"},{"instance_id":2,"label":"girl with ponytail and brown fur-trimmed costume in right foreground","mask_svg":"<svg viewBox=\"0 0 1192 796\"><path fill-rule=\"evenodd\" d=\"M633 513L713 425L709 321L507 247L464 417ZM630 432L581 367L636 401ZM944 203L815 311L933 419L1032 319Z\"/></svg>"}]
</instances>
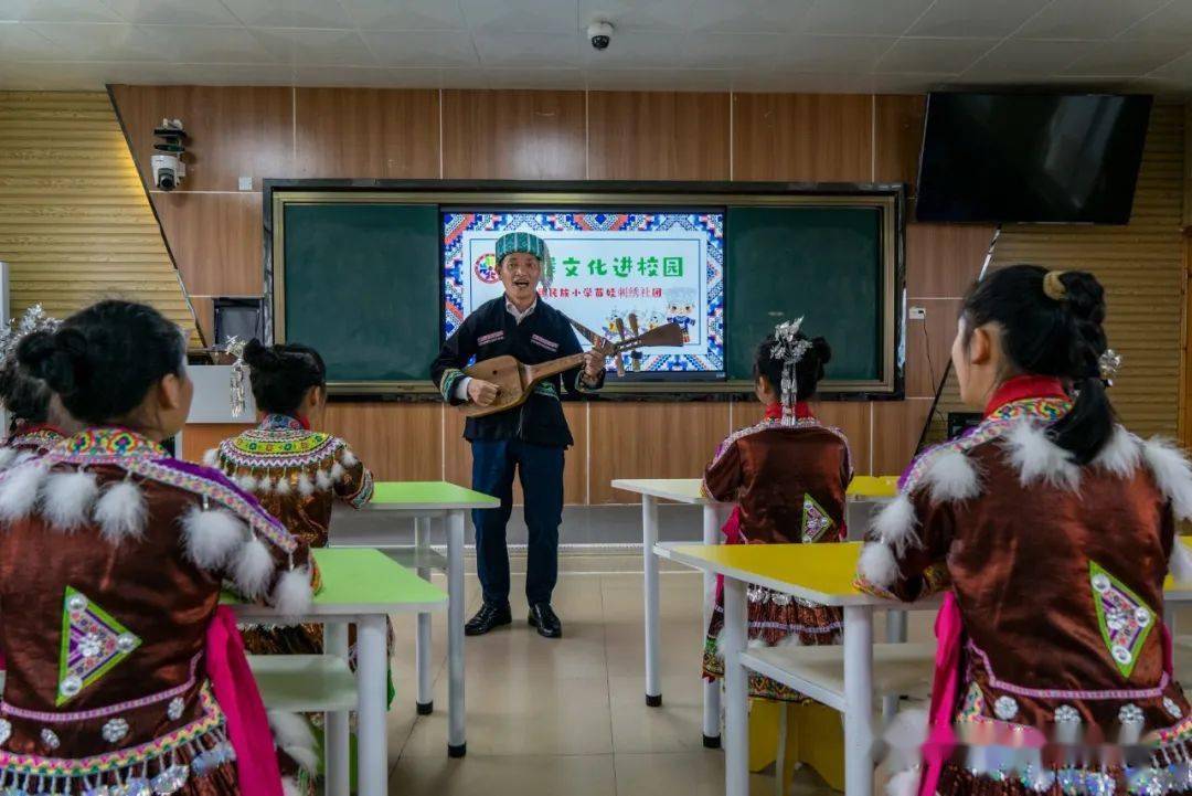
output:
<instances>
[{"instance_id":1,"label":"girl with ponytail and brown fur-trimmed costume in right foreground","mask_svg":"<svg viewBox=\"0 0 1192 796\"><path fill-rule=\"evenodd\" d=\"M1169 566L1188 578L1192 468L1115 419L1104 319L1081 272L1001 268L964 299L952 365L985 421L911 466L859 562L876 593L945 595L926 769L895 791L1192 788L1163 624Z\"/></svg>"}]
</instances>

